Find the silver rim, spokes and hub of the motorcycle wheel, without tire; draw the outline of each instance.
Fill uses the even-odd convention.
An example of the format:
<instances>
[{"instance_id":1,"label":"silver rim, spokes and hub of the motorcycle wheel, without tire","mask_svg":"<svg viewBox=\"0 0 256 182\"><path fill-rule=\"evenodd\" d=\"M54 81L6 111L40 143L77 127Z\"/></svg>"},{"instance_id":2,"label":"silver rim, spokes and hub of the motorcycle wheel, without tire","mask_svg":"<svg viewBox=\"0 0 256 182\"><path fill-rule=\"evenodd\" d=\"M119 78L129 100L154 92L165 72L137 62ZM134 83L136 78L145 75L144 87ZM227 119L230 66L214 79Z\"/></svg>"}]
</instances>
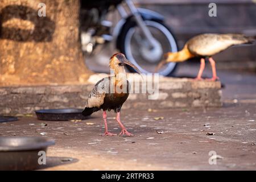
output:
<instances>
[{"instance_id":1,"label":"silver rim, spokes and hub of the motorcycle wheel, without tire","mask_svg":"<svg viewBox=\"0 0 256 182\"><path fill-rule=\"evenodd\" d=\"M151 20L146 20L145 23L159 45L153 50L149 50L146 47L147 40L144 40L138 27L131 27L127 31L124 44L124 53L127 59L137 65L143 73L154 72L156 65L162 59L163 53L177 51L175 39L163 24ZM168 64L160 72L163 75L168 75L174 67L175 63Z\"/></svg>"}]
</instances>

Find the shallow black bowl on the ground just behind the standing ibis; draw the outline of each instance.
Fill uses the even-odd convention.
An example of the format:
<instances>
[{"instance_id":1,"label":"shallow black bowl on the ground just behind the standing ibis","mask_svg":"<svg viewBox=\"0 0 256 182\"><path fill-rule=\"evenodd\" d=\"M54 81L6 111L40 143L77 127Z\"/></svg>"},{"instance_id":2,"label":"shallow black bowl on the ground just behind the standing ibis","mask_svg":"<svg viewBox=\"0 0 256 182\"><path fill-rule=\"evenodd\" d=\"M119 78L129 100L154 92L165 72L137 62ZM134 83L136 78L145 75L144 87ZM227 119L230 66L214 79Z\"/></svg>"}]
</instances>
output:
<instances>
[{"instance_id":1,"label":"shallow black bowl on the ground just behind the standing ibis","mask_svg":"<svg viewBox=\"0 0 256 182\"><path fill-rule=\"evenodd\" d=\"M44 109L36 110L36 117L46 121L68 121L72 119L88 119L82 115L82 109Z\"/></svg>"}]
</instances>

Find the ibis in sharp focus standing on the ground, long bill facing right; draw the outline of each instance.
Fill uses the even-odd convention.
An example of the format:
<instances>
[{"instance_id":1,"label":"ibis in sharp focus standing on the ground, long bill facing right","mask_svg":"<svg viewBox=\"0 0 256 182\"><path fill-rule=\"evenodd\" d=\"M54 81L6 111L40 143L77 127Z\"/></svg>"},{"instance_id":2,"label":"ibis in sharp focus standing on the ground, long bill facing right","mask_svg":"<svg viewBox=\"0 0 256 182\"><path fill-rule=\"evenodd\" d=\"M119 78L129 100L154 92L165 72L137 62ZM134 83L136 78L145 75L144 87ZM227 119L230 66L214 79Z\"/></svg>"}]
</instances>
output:
<instances>
[{"instance_id":1,"label":"ibis in sharp focus standing on the ground, long bill facing right","mask_svg":"<svg viewBox=\"0 0 256 182\"><path fill-rule=\"evenodd\" d=\"M89 94L83 115L90 115L98 110L103 110L103 119L105 124L105 136L115 136L117 134L108 131L106 111L114 110L117 113L115 118L121 127L119 135L131 136L125 126L121 123L120 111L123 103L129 96L129 81L127 80L125 65L133 67L137 72L141 73L135 65L130 63L122 53L115 53L110 57L109 68L113 70L114 76L102 78L98 81Z\"/></svg>"}]
</instances>

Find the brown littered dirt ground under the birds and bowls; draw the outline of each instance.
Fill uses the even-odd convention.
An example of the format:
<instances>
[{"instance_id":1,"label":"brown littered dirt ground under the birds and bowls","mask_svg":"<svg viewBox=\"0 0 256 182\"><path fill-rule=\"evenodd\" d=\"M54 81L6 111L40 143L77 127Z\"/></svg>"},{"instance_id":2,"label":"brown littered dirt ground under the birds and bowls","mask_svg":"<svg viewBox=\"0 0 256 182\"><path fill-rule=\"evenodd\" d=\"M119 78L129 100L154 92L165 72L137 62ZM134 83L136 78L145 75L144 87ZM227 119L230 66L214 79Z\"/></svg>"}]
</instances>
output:
<instances>
[{"instance_id":1,"label":"brown littered dirt ground under the birds and bowls","mask_svg":"<svg viewBox=\"0 0 256 182\"><path fill-rule=\"evenodd\" d=\"M181 68L179 75L197 71L191 65ZM255 170L256 75L225 71L219 76L224 84L221 108L122 110L121 119L134 137L101 137L101 112L80 122L45 122L28 115L0 123L0 135L46 133L55 139L46 170ZM118 134L114 117L109 113L109 129ZM212 154L217 159L209 159Z\"/></svg>"}]
</instances>

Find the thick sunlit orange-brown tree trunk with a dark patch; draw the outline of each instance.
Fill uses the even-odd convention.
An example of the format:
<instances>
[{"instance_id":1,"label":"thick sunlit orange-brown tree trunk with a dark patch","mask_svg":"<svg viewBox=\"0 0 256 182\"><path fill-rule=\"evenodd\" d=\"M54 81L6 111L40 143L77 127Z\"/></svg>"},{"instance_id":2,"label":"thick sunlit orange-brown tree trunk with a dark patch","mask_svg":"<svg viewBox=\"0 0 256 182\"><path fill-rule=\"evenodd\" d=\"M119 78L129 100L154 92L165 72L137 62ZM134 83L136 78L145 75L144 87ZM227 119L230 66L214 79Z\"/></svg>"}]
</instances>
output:
<instances>
[{"instance_id":1,"label":"thick sunlit orange-brown tree trunk with a dark patch","mask_svg":"<svg viewBox=\"0 0 256 182\"><path fill-rule=\"evenodd\" d=\"M0 85L86 82L79 11L78 0L1 0Z\"/></svg>"}]
</instances>

